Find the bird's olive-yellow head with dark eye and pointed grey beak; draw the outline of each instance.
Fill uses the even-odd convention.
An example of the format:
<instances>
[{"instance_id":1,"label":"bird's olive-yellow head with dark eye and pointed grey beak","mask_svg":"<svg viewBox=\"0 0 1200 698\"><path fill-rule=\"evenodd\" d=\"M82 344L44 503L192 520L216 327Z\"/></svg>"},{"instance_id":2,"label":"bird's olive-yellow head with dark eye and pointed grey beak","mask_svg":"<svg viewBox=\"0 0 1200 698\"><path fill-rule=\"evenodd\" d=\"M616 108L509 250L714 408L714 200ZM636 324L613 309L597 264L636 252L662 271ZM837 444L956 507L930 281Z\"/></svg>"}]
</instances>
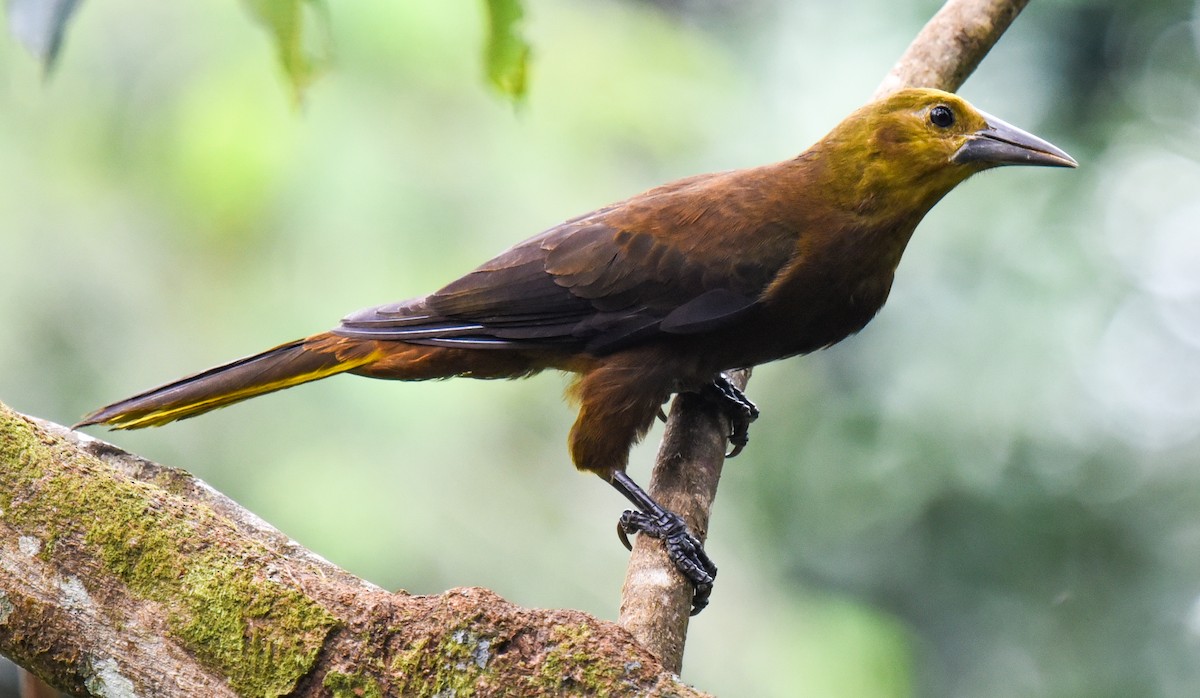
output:
<instances>
[{"instance_id":1,"label":"bird's olive-yellow head with dark eye and pointed grey beak","mask_svg":"<svg viewBox=\"0 0 1200 698\"><path fill-rule=\"evenodd\" d=\"M928 207L972 174L1008 164L1076 167L1061 149L930 89L906 89L866 104L822 144L839 180L860 201L894 207L916 197ZM830 163L833 164L833 163ZM922 211L923 212L923 211Z\"/></svg>"}]
</instances>

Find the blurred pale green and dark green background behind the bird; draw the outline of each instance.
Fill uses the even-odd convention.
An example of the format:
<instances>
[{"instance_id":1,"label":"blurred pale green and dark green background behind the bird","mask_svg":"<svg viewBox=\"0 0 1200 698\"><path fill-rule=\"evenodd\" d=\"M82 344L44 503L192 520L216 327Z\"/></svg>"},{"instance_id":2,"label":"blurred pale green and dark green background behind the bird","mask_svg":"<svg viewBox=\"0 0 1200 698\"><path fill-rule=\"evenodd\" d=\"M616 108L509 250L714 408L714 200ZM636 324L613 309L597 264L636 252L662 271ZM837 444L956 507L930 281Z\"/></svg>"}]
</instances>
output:
<instances>
[{"instance_id":1,"label":"blurred pale green and dark green background behind the bird","mask_svg":"<svg viewBox=\"0 0 1200 698\"><path fill-rule=\"evenodd\" d=\"M481 77L481 4L337 4L296 109L238 4L86 2L48 79L0 41L0 401L71 423L649 186L790 157L938 6L527 0L514 107ZM864 332L756 372L686 682L1196 694L1196 8L1032 2L966 83L1080 168L959 187ZM614 619L624 503L571 468L564 386L340 377L104 438L385 588Z\"/></svg>"}]
</instances>

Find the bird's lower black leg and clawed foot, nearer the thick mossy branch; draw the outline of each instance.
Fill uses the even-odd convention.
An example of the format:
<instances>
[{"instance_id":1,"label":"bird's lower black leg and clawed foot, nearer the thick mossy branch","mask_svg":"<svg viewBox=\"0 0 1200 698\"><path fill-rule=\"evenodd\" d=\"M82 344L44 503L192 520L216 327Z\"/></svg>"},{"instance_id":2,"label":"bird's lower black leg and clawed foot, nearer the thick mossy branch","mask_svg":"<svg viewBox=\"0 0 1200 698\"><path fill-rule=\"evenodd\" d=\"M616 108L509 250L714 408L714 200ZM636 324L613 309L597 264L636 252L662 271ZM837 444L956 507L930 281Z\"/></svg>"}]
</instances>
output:
<instances>
[{"instance_id":1,"label":"bird's lower black leg and clawed foot, nearer the thick mossy branch","mask_svg":"<svg viewBox=\"0 0 1200 698\"><path fill-rule=\"evenodd\" d=\"M624 470L616 470L608 482L637 507L637 511L626 511L620 515L617 534L622 542L625 543L626 548L630 547L629 534L644 534L662 541L667 556L695 588L691 598L691 615L703 610L713 592L716 565L704 553L700 538L688 530L688 524L679 515L667 511L655 501L649 493L630 480Z\"/></svg>"}]
</instances>

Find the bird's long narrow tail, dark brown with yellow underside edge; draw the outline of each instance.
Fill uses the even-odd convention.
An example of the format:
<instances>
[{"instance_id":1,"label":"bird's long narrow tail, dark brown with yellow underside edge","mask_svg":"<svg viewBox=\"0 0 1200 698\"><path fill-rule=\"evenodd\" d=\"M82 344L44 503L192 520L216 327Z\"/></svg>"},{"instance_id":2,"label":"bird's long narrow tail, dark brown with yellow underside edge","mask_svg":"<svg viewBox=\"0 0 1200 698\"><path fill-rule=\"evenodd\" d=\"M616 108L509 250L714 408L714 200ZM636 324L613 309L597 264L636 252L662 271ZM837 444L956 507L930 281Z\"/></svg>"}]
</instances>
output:
<instances>
[{"instance_id":1,"label":"bird's long narrow tail, dark brown with yellow underside edge","mask_svg":"<svg viewBox=\"0 0 1200 698\"><path fill-rule=\"evenodd\" d=\"M86 415L76 427L156 427L263 393L354 371L380 355L377 342L347 339L328 332L313 335L113 403Z\"/></svg>"}]
</instances>

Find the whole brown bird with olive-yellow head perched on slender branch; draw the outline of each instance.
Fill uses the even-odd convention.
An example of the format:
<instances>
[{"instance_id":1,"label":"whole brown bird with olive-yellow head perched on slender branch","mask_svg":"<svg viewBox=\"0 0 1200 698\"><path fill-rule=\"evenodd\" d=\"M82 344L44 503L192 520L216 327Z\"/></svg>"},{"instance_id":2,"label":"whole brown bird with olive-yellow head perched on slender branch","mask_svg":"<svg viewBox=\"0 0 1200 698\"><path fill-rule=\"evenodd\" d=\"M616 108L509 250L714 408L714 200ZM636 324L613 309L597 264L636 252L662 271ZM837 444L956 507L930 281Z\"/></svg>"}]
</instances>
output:
<instances>
[{"instance_id":1,"label":"whole brown bird with olive-yellow head perched on slender branch","mask_svg":"<svg viewBox=\"0 0 1200 698\"><path fill-rule=\"evenodd\" d=\"M972 174L1006 164L1075 161L954 95L904 90L798 157L682 179L571 218L427 296L352 313L329 332L143 392L78 426L163 425L346 372L570 372L575 465L637 506L623 529L664 540L696 588L697 613L716 567L625 474L631 446L672 393L695 391L731 415L736 455L757 410L724 372L862 330L925 212Z\"/></svg>"}]
</instances>

